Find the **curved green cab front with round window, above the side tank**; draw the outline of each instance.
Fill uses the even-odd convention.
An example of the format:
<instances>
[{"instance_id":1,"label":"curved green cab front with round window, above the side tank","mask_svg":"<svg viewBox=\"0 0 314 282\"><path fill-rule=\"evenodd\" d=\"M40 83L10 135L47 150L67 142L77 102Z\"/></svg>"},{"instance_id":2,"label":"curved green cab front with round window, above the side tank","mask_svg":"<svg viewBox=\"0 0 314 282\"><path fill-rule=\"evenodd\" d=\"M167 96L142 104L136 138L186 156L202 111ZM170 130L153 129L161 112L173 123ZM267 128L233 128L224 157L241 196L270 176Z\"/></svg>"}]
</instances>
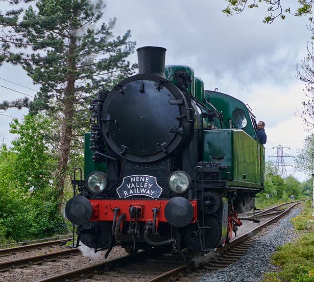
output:
<instances>
[{"instance_id":1,"label":"curved green cab front with round window, above the side tank","mask_svg":"<svg viewBox=\"0 0 314 282\"><path fill-rule=\"evenodd\" d=\"M205 99L209 99L209 102L212 103L219 112L223 112L223 123L225 124L226 128L229 128L229 119L232 121L232 128L238 128L232 113L236 109L243 110L247 119L247 125L243 128L243 130L252 138L257 140L255 133L255 116L248 110L247 106L243 102L227 94L210 90L205 90Z\"/></svg>"}]
</instances>

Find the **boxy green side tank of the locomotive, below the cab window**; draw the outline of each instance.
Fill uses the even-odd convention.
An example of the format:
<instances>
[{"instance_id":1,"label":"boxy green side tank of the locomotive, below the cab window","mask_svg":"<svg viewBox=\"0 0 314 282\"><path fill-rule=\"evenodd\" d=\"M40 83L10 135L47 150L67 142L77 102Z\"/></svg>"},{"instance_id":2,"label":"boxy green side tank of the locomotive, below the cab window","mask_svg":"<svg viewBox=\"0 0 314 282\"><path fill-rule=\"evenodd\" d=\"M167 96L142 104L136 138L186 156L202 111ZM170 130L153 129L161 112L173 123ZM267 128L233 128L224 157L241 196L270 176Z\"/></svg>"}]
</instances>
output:
<instances>
[{"instance_id":1,"label":"boxy green side tank of the locomotive, below the cab window","mask_svg":"<svg viewBox=\"0 0 314 282\"><path fill-rule=\"evenodd\" d=\"M264 147L241 129L204 130L204 161L229 167L223 180L261 184Z\"/></svg>"}]
</instances>

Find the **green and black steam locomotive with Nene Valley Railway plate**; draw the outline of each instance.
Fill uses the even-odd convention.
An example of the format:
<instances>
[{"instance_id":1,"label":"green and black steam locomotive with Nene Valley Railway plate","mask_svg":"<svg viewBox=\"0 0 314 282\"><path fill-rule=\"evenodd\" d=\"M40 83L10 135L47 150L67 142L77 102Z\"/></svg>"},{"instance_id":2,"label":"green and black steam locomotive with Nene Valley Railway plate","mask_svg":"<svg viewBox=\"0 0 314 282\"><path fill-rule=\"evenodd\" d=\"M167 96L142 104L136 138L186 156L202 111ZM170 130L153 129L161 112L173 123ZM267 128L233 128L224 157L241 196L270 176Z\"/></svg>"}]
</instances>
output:
<instances>
[{"instance_id":1,"label":"green and black steam locomotive with Nene Valley Railway plate","mask_svg":"<svg viewBox=\"0 0 314 282\"><path fill-rule=\"evenodd\" d=\"M78 243L203 254L231 241L263 189L250 107L216 91L164 48L137 50L137 75L92 101L84 178L66 204Z\"/></svg>"}]
</instances>

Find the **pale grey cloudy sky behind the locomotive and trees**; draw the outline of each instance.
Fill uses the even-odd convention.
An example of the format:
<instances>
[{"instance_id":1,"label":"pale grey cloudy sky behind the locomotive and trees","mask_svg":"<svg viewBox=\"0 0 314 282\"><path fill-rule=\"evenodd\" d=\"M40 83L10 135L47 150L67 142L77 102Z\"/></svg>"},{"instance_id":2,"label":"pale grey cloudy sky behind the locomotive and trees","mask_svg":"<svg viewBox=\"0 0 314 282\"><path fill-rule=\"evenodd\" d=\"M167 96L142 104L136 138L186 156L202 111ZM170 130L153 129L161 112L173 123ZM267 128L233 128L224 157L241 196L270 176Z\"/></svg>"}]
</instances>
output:
<instances>
[{"instance_id":1,"label":"pale grey cloudy sky behind the locomotive and trees","mask_svg":"<svg viewBox=\"0 0 314 282\"><path fill-rule=\"evenodd\" d=\"M294 2L297 2L296 0ZM296 67L306 56L311 33L308 19L287 15L271 25L262 23L267 6L227 17L224 0L108 0L104 21L116 17L115 35L131 30L137 48L146 45L167 49L166 64L185 64L203 79L205 89L218 88L252 108L266 124L266 159L277 153L273 147L289 147L284 154L296 155L308 132L295 115L305 100L304 85L296 79ZM293 7L292 7L293 8ZM136 54L130 57L136 62ZM11 82L9 82L9 81ZM19 86L17 84L21 84ZM27 86L32 89L23 87ZM22 92L14 92L7 88ZM38 87L19 67L0 68L0 99L34 96ZM26 111L1 114L22 118ZM12 117L0 115L0 141L9 144ZM285 162L293 165L293 158ZM304 175L286 167L300 180Z\"/></svg>"}]
</instances>

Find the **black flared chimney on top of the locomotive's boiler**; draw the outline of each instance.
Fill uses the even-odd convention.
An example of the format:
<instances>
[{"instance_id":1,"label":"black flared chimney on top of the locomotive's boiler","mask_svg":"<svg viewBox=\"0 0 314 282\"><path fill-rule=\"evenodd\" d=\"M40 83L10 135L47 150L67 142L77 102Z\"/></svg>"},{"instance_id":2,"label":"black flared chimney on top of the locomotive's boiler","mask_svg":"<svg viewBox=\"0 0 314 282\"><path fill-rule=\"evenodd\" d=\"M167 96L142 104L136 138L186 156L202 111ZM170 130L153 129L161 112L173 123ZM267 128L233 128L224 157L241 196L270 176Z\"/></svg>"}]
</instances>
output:
<instances>
[{"instance_id":1,"label":"black flared chimney on top of the locomotive's boiler","mask_svg":"<svg viewBox=\"0 0 314 282\"><path fill-rule=\"evenodd\" d=\"M144 46L137 50L138 74L153 74L166 78L164 75L164 61L166 49L155 46Z\"/></svg>"}]
</instances>

